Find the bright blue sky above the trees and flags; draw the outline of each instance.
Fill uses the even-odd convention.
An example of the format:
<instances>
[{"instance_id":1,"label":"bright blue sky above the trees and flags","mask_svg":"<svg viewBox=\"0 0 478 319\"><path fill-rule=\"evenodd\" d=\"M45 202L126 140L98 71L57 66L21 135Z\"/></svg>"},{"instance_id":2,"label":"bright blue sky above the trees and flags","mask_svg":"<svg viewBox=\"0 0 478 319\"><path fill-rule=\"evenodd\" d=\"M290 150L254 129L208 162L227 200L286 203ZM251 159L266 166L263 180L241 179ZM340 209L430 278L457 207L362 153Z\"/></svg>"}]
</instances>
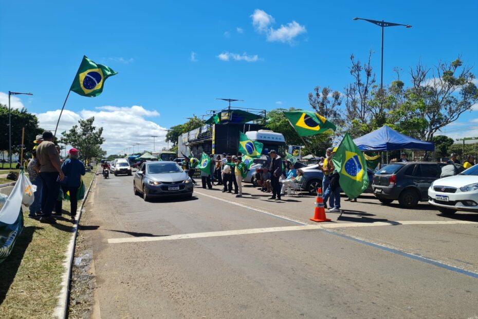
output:
<instances>
[{"instance_id":1,"label":"bright blue sky above the trees and flags","mask_svg":"<svg viewBox=\"0 0 478 319\"><path fill-rule=\"evenodd\" d=\"M256 9L265 15L256 15L253 25ZM75 114L96 115L105 131L112 127L106 147L117 152L124 149L122 140L132 142L125 131L164 135L162 128L192 113L224 107L218 97L244 99L241 107L308 108L307 93L316 85L341 91L351 81L351 54L364 60L375 51L378 78L380 28L353 21L355 16L413 26L385 29L384 83L394 79L395 66L407 82L408 68L419 60L433 66L458 55L478 73L476 12L476 1L4 1L0 92L32 92L18 102L50 128L82 56L108 65L118 75L99 97L71 94L60 127L68 128ZM121 122L125 118L131 126ZM476 118L478 111L458 122ZM158 139L156 147L163 145ZM149 139L141 141L152 148Z\"/></svg>"}]
</instances>

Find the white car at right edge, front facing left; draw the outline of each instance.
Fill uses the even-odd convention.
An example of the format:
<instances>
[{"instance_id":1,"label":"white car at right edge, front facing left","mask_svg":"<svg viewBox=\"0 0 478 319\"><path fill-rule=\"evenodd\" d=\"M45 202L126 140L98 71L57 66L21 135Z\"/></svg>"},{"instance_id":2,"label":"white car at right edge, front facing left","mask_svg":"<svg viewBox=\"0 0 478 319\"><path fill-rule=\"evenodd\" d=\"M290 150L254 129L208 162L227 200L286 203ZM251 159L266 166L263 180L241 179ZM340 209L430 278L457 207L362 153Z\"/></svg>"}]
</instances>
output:
<instances>
[{"instance_id":1,"label":"white car at right edge, front facing left","mask_svg":"<svg viewBox=\"0 0 478 319\"><path fill-rule=\"evenodd\" d=\"M478 165L434 181L428 189L428 199L444 215L457 210L478 212Z\"/></svg>"}]
</instances>

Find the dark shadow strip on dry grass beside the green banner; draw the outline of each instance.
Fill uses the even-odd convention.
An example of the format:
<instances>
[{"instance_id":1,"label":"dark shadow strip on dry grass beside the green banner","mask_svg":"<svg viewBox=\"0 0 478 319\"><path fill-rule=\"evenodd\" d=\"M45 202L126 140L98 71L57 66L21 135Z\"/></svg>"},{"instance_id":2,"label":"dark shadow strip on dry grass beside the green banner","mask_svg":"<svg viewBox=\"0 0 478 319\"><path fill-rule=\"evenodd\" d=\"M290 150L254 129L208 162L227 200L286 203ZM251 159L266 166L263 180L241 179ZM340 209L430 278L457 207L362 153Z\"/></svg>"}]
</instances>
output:
<instances>
[{"instance_id":1,"label":"dark shadow strip on dry grass beside the green banner","mask_svg":"<svg viewBox=\"0 0 478 319\"><path fill-rule=\"evenodd\" d=\"M22 234L16 239L15 246L10 256L2 262L2 280L0 280L0 305L5 300L8 290L15 279L16 273L22 263L25 251L33 238L36 229L43 227L27 226L23 228ZM41 271L41 270L39 270Z\"/></svg>"}]
</instances>

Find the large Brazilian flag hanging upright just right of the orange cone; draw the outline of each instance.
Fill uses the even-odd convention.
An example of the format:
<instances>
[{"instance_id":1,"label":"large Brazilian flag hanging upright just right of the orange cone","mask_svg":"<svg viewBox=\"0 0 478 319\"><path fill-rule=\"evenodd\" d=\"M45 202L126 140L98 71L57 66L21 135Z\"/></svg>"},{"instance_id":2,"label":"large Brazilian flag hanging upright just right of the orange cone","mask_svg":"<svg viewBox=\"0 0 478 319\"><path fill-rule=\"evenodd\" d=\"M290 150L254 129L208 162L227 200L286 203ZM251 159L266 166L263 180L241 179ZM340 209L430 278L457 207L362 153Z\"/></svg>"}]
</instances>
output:
<instances>
[{"instance_id":1,"label":"large Brazilian flag hanging upright just right of the orange cone","mask_svg":"<svg viewBox=\"0 0 478 319\"><path fill-rule=\"evenodd\" d=\"M348 133L343 137L332 162L340 175L340 187L349 198L357 198L369 186L365 157Z\"/></svg>"}]
</instances>

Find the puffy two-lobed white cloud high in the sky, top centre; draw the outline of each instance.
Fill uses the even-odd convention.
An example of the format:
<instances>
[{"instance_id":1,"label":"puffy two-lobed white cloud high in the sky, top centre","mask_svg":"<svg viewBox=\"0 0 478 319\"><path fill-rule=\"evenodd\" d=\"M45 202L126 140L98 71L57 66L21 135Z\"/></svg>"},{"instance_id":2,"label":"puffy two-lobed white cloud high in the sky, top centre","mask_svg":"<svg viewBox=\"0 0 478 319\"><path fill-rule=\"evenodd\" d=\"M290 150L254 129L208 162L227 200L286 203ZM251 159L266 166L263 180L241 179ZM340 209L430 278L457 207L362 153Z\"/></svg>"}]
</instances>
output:
<instances>
[{"instance_id":1,"label":"puffy two-lobed white cloud high in the sky, top centre","mask_svg":"<svg viewBox=\"0 0 478 319\"><path fill-rule=\"evenodd\" d=\"M296 21L281 25L279 29L274 29L271 26L275 22L274 18L260 9L255 9L251 17L255 30L259 33L265 33L267 41L270 42L278 41L291 44L299 34L307 32L305 27Z\"/></svg>"}]
</instances>

